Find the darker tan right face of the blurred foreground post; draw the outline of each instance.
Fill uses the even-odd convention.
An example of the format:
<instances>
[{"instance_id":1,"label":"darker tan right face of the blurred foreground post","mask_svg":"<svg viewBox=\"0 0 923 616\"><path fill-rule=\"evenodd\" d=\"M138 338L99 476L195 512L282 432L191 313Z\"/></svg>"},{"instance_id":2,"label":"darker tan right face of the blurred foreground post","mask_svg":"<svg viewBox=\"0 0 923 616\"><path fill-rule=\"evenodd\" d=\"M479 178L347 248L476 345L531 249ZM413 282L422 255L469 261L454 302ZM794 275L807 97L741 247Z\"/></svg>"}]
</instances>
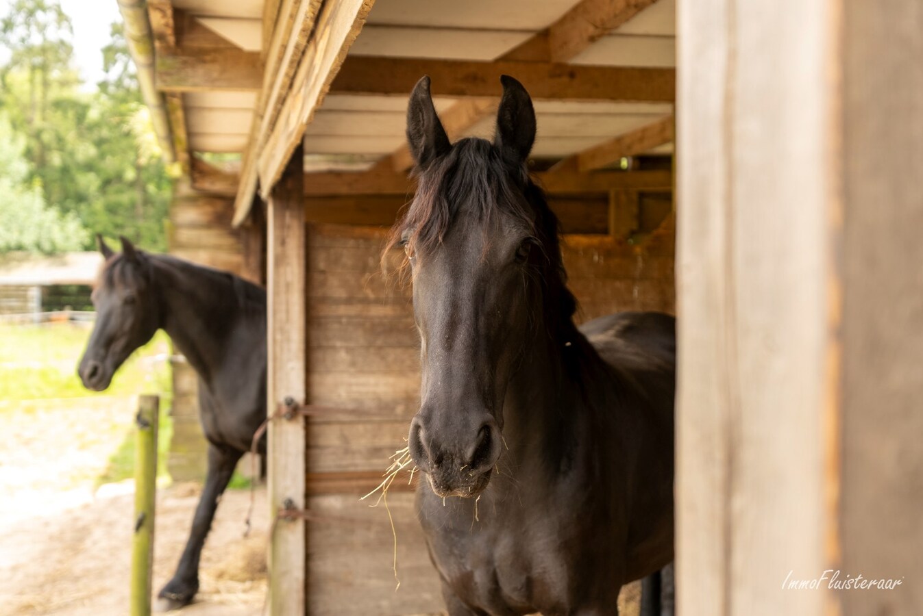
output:
<instances>
[{"instance_id":1,"label":"darker tan right face of the blurred foreground post","mask_svg":"<svg viewBox=\"0 0 923 616\"><path fill-rule=\"evenodd\" d=\"M923 608L923 6L845 1L843 612Z\"/></svg>"}]
</instances>

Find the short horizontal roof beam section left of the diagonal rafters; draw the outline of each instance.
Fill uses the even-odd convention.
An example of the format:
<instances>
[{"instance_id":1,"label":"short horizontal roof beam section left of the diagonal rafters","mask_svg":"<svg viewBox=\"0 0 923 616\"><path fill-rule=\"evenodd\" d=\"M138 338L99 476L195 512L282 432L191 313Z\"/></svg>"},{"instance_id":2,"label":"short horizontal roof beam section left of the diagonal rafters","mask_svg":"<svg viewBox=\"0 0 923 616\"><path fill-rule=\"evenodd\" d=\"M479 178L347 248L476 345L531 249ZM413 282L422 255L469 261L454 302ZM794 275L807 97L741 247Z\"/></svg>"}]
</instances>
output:
<instances>
[{"instance_id":1,"label":"short horizontal roof beam section left of the diagonal rafters","mask_svg":"<svg viewBox=\"0 0 923 616\"><path fill-rule=\"evenodd\" d=\"M163 91L255 90L262 85L263 62L259 53L236 48L163 49L157 53L155 79Z\"/></svg>"}]
</instances>

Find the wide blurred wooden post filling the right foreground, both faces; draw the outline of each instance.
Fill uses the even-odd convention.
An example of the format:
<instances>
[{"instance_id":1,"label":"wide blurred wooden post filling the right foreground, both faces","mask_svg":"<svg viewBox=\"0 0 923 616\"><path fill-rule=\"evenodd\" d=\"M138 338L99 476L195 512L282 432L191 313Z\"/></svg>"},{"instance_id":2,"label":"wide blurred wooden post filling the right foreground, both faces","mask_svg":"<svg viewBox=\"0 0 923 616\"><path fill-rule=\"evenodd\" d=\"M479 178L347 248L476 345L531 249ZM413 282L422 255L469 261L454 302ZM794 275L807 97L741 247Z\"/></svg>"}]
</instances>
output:
<instances>
[{"instance_id":1,"label":"wide blurred wooden post filling the right foreground, both faces","mask_svg":"<svg viewBox=\"0 0 923 616\"><path fill-rule=\"evenodd\" d=\"M923 12L677 8L678 608L918 613Z\"/></svg>"}]
</instances>

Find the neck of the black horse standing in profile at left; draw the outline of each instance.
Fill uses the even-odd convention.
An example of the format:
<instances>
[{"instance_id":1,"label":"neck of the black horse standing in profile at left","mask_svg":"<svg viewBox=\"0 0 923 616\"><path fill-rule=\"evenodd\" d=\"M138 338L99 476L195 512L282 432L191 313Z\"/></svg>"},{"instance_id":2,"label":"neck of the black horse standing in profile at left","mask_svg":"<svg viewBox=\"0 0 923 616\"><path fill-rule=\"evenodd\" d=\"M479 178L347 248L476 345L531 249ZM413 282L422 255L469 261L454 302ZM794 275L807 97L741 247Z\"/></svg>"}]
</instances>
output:
<instances>
[{"instance_id":1,"label":"neck of the black horse standing in profile at left","mask_svg":"<svg viewBox=\"0 0 923 616\"><path fill-rule=\"evenodd\" d=\"M162 298L162 329L206 382L217 372L228 323L233 318L234 289L216 284L210 272L182 262L157 261L154 267Z\"/></svg>"}]
</instances>

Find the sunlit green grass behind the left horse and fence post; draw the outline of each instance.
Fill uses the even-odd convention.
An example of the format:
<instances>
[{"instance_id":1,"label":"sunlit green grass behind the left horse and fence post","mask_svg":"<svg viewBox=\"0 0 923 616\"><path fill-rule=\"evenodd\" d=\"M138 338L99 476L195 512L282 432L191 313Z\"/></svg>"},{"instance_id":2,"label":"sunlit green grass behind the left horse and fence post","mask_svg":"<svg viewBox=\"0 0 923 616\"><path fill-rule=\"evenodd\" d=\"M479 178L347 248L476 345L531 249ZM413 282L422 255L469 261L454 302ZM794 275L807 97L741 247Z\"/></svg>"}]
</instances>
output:
<instances>
[{"instance_id":1,"label":"sunlit green grass behind the left horse and fence post","mask_svg":"<svg viewBox=\"0 0 923 616\"><path fill-rule=\"evenodd\" d=\"M90 326L80 324L0 325L0 400L24 403L2 405L0 412L29 413L28 401L38 399L158 395L158 479L169 481L166 462L173 436L173 382L169 362L165 361L170 354L169 338L158 332L128 358L103 392L85 389L77 375L77 364L89 338ZM129 429L96 484L134 477L134 467L135 431Z\"/></svg>"}]
</instances>

